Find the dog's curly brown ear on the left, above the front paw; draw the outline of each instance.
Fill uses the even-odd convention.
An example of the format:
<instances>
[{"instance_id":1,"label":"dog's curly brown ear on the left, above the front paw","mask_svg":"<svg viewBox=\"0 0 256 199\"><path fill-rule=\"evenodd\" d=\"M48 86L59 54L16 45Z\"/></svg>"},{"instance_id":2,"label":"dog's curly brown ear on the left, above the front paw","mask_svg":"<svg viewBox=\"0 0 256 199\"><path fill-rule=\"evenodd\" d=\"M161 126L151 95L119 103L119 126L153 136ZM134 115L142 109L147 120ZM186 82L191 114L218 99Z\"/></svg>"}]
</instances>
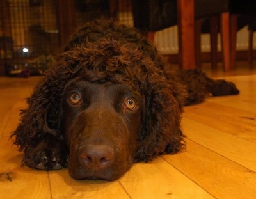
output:
<instances>
[{"instance_id":1,"label":"dog's curly brown ear on the left, above the front paw","mask_svg":"<svg viewBox=\"0 0 256 199\"><path fill-rule=\"evenodd\" d=\"M14 144L19 145L20 150L31 140L44 138L45 134L60 136L60 90L51 77L47 76L37 84L27 102L28 108L21 111L20 123L11 134L11 137L15 136Z\"/></svg>"}]
</instances>

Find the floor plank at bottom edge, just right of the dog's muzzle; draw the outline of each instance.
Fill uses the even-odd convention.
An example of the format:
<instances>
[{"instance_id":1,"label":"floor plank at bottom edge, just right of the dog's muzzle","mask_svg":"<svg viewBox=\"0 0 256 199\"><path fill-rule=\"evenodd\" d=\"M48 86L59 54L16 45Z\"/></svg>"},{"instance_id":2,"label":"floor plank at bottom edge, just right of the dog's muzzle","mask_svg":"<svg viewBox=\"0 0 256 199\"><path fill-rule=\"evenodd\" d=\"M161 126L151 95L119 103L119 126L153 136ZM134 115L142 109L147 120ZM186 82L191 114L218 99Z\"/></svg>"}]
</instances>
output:
<instances>
[{"instance_id":1,"label":"floor plank at bottom edge, just right of the dog's muzzle","mask_svg":"<svg viewBox=\"0 0 256 199\"><path fill-rule=\"evenodd\" d=\"M213 198L159 157L134 164L120 182L131 198Z\"/></svg>"}]
</instances>

